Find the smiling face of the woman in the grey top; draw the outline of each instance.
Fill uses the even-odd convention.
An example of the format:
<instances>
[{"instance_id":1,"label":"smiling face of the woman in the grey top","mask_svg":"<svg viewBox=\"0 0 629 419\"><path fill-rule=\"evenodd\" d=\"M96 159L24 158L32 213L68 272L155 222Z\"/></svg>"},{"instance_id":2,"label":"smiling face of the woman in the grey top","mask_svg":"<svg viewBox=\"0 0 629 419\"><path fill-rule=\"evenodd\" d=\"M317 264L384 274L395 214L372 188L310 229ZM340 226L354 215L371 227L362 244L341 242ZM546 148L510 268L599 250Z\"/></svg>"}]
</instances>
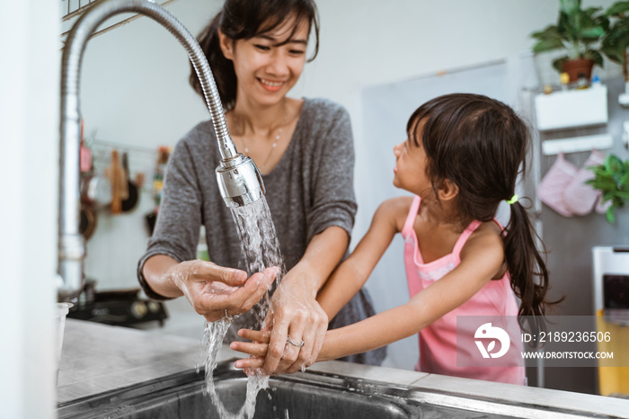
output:
<instances>
[{"instance_id":1,"label":"smiling face of the woman in the grey top","mask_svg":"<svg viewBox=\"0 0 629 419\"><path fill-rule=\"evenodd\" d=\"M238 78L236 101L271 105L284 98L304 70L308 33L308 22L294 19L249 40L234 41L220 33L221 49Z\"/></svg>"}]
</instances>

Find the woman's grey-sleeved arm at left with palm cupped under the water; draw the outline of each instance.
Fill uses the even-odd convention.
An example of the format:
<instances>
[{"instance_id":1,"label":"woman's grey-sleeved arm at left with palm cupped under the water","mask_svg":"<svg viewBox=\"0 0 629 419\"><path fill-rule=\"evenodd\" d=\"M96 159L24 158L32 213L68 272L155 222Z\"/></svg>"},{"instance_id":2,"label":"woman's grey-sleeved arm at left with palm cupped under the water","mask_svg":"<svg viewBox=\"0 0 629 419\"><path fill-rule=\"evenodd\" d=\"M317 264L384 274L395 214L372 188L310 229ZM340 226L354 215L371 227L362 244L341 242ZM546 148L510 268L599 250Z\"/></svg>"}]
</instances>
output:
<instances>
[{"instance_id":1,"label":"woman's grey-sleeved arm at left with palm cupped under the water","mask_svg":"<svg viewBox=\"0 0 629 419\"><path fill-rule=\"evenodd\" d=\"M195 260L203 206L199 183L204 175L195 169L198 165L190 163L194 138L199 135L196 129L191 132L170 156L159 217L138 263L137 277L147 296L173 299L184 295L211 322L226 312L231 316L248 311L264 295L275 272L256 273L247 280L244 271Z\"/></svg>"}]
</instances>

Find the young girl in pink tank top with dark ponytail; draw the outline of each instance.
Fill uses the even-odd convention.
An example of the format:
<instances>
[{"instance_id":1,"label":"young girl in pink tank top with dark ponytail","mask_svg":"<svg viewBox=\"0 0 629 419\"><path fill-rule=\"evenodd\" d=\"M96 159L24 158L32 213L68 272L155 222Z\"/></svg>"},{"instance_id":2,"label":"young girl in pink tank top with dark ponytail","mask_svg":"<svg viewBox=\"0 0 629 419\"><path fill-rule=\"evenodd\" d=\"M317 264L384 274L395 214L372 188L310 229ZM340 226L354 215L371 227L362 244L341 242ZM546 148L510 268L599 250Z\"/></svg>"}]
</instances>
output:
<instances>
[{"instance_id":1,"label":"young girl in pink tank top with dark ponytail","mask_svg":"<svg viewBox=\"0 0 629 419\"><path fill-rule=\"evenodd\" d=\"M421 105L407 134L394 147L394 185L414 196L380 205L368 233L317 299L333 316L367 281L396 233L405 240L411 299L328 331L316 361L419 333L416 370L523 384L519 335L511 335L511 351L501 357L501 367L479 367L474 364L479 357L473 342L476 327L457 342L456 317L545 314L548 274L527 211L514 194L518 171L525 168L527 126L503 103L476 94L448 94ZM510 204L507 227L494 218L501 201ZM255 342L232 343L233 349L265 355L266 332L239 334ZM261 364L261 358L250 358L235 366Z\"/></svg>"}]
</instances>

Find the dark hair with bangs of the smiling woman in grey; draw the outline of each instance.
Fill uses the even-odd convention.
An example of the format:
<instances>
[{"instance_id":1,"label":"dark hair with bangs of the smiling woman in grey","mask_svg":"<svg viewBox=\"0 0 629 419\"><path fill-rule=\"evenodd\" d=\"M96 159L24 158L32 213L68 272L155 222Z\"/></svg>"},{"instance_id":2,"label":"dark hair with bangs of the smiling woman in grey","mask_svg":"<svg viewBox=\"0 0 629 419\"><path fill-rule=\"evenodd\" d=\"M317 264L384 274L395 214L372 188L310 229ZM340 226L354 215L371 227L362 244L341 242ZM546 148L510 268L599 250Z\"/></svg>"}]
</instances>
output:
<instances>
[{"instance_id":1,"label":"dark hair with bangs of the smiling woman in grey","mask_svg":"<svg viewBox=\"0 0 629 419\"><path fill-rule=\"evenodd\" d=\"M319 52L319 15L313 0L226 0L223 9L199 33L197 40L208 58L226 111L234 107L237 80L234 64L225 58L220 49L218 29L230 40L250 40L273 31L292 18L295 18L295 27L288 40L297 32L300 22L308 22L310 30L314 30L314 53L308 58L310 62ZM189 81L192 88L204 97L199 77L191 65Z\"/></svg>"}]
</instances>

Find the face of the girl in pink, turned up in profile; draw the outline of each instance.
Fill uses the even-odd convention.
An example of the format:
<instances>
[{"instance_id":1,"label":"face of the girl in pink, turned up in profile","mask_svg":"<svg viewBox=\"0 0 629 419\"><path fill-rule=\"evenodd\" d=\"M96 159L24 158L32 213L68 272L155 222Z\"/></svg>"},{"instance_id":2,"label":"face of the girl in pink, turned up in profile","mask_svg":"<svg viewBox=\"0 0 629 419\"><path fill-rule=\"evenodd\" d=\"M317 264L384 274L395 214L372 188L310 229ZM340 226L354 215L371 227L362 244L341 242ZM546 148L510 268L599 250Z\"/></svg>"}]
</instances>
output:
<instances>
[{"instance_id":1,"label":"face of the girl in pink, turned up in profile","mask_svg":"<svg viewBox=\"0 0 629 419\"><path fill-rule=\"evenodd\" d=\"M426 197L426 192L432 191L430 179L426 174L428 157L421 144L415 145L413 135L421 136L421 126L413 130L406 141L394 147L394 186L416 195Z\"/></svg>"}]
</instances>

